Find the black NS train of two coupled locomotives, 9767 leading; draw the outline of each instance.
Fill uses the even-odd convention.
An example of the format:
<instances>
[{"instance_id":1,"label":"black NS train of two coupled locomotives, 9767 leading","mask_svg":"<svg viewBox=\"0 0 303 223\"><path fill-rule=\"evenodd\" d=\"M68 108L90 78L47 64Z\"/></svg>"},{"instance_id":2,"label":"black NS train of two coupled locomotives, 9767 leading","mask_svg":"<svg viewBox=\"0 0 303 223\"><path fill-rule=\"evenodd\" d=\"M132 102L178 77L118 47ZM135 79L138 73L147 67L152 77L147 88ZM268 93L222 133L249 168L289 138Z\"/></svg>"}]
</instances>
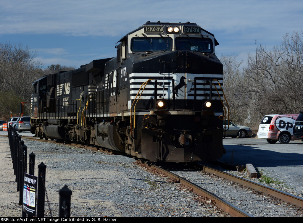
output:
<instances>
[{"instance_id":1,"label":"black NS train of two coupled locomotives, 9767 leading","mask_svg":"<svg viewBox=\"0 0 303 223\"><path fill-rule=\"evenodd\" d=\"M33 83L32 133L150 161L216 160L222 145L222 64L195 23L146 22L117 56Z\"/></svg>"}]
</instances>

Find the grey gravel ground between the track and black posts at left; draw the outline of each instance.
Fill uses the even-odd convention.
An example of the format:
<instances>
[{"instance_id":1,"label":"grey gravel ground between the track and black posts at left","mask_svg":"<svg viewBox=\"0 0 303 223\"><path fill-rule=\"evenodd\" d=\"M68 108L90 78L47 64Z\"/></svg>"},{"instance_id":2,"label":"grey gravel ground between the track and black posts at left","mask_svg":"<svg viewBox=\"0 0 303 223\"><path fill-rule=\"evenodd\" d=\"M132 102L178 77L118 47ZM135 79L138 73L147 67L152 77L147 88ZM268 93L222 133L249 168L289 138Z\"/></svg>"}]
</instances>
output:
<instances>
[{"instance_id":1,"label":"grey gravel ground between the track and black posts at left","mask_svg":"<svg viewBox=\"0 0 303 223\"><path fill-rule=\"evenodd\" d=\"M171 178L153 174L133 158L98 150L23 139L27 154L46 165L45 217L58 217L58 191L72 191L71 217L229 217L214 202ZM22 208L8 138L0 137L2 217L20 217Z\"/></svg>"}]
</instances>

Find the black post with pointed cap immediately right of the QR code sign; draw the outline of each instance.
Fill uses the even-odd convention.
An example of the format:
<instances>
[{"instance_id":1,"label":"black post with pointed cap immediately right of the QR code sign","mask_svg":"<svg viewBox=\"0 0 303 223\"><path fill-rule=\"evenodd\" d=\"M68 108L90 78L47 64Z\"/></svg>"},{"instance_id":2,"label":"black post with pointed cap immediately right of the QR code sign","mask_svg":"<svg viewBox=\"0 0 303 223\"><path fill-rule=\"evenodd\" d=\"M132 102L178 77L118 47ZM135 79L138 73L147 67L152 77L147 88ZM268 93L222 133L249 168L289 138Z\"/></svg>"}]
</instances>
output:
<instances>
[{"instance_id":1,"label":"black post with pointed cap immediately right of the QR code sign","mask_svg":"<svg viewBox=\"0 0 303 223\"><path fill-rule=\"evenodd\" d=\"M44 217L45 172L46 172L46 165L44 165L44 163L41 162L38 165L37 218Z\"/></svg>"}]
</instances>

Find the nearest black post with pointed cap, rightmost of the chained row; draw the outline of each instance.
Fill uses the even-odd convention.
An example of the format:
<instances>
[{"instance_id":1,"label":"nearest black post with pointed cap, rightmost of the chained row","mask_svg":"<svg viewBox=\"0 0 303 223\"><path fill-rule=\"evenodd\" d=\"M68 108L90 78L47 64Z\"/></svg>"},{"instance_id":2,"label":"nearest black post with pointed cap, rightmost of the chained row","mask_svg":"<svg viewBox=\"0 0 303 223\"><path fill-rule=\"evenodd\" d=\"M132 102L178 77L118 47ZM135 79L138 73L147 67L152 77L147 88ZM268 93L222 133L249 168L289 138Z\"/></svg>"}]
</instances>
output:
<instances>
[{"instance_id":1,"label":"nearest black post with pointed cap, rightmost of the chained row","mask_svg":"<svg viewBox=\"0 0 303 223\"><path fill-rule=\"evenodd\" d=\"M59 190L59 217L71 216L71 195L72 191L66 185Z\"/></svg>"}]
</instances>

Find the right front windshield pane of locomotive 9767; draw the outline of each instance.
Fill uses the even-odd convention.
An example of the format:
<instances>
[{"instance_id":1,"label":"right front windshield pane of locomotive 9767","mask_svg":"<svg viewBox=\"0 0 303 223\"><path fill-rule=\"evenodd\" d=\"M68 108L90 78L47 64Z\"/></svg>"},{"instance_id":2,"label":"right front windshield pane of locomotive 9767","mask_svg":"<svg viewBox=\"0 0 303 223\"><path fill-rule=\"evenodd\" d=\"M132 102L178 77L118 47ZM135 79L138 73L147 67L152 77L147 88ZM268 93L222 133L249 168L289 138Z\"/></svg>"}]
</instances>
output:
<instances>
[{"instance_id":1,"label":"right front windshield pane of locomotive 9767","mask_svg":"<svg viewBox=\"0 0 303 223\"><path fill-rule=\"evenodd\" d=\"M203 53L212 53L213 44L209 38L177 37L175 39L177 50L190 50Z\"/></svg>"}]
</instances>

